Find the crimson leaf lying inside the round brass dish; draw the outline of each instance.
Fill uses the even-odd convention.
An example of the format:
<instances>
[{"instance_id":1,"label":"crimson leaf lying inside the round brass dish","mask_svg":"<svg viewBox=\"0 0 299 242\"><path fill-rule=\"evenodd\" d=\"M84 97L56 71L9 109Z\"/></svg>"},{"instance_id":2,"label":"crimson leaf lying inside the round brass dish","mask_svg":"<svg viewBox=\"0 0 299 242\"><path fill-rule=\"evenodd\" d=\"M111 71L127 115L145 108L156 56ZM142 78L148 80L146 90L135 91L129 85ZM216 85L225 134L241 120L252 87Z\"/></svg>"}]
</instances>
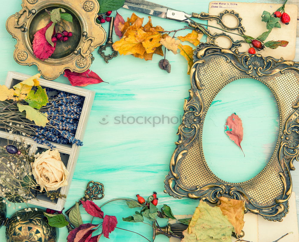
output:
<instances>
[{"instance_id":1,"label":"crimson leaf lying inside the round brass dish","mask_svg":"<svg viewBox=\"0 0 299 242\"><path fill-rule=\"evenodd\" d=\"M32 49L33 54L41 59L42 61L48 59L55 50L56 42L54 43L54 47L46 39L46 31L52 25L53 22L47 24L46 27L43 27L39 31L34 34L34 38L32 41ZM53 30L53 35L55 34L55 28Z\"/></svg>"}]
</instances>

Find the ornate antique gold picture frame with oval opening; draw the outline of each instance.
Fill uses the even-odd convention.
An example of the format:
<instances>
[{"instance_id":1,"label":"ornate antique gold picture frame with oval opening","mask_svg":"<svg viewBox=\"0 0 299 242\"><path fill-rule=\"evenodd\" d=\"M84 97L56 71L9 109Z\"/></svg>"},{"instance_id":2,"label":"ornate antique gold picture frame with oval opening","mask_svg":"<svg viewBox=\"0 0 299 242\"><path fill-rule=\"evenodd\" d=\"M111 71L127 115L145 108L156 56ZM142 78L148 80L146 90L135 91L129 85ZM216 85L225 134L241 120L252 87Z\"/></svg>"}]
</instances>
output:
<instances>
[{"instance_id":1,"label":"ornate antique gold picture frame with oval opening","mask_svg":"<svg viewBox=\"0 0 299 242\"><path fill-rule=\"evenodd\" d=\"M299 63L260 54L239 53L201 43L194 52L190 96L184 103L179 140L171 157L165 190L175 198L216 203L225 196L245 201L245 212L281 221L292 192L290 170L299 161ZM279 110L279 135L271 159L254 178L229 183L208 167L202 149L205 115L219 91L240 78L254 78L273 93ZM192 117L190 119L190 117Z\"/></svg>"}]
</instances>

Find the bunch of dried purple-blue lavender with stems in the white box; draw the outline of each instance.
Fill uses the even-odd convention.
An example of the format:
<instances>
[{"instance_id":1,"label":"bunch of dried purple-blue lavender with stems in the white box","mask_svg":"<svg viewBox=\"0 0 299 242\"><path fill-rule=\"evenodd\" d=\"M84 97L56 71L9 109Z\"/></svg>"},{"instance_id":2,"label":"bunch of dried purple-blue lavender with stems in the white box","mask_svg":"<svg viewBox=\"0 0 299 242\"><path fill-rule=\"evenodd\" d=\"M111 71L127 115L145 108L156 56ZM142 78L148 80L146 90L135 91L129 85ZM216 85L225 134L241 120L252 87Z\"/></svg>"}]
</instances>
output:
<instances>
[{"instance_id":1,"label":"bunch of dried purple-blue lavender with stems in the white box","mask_svg":"<svg viewBox=\"0 0 299 242\"><path fill-rule=\"evenodd\" d=\"M39 127L33 121L26 119L25 112L19 112L16 103L10 100L0 102L0 128L9 133L14 131L29 136L38 144L47 144L51 149L55 146L50 143L76 144L83 142L74 138L78 127L84 97L46 87L49 102L39 109L48 114L49 123ZM24 101L23 101L24 102Z\"/></svg>"}]
</instances>

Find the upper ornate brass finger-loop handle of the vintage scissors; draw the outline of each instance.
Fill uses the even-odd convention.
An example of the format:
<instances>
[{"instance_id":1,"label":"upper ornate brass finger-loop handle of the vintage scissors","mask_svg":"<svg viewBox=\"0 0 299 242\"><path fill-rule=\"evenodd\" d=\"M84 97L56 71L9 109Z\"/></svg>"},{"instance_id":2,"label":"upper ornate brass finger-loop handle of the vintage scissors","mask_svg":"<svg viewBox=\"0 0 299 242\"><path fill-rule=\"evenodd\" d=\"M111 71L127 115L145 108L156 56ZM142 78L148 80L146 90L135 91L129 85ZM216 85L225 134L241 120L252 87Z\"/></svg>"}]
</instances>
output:
<instances>
[{"instance_id":1,"label":"upper ornate brass finger-loop handle of the vintage scissors","mask_svg":"<svg viewBox=\"0 0 299 242\"><path fill-rule=\"evenodd\" d=\"M235 27L229 27L226 24L223 23L223 18L225 16L234 16L235 19L237 19L237 25ZM201 20L213 20L216 19L217 20L217 24L220 24L222 28L226 29L226 30L238 30L238 32L240 34L244 34L244 32L246 32L245 28L242 26L242 18L239 16L239 13L235 13L234 10L225 10L222 13L219 13L218 16L216 15L209 15L208 13L192 13L192 18L197 18L197 19L201 19Z\"/></svg>"}]
</instances>

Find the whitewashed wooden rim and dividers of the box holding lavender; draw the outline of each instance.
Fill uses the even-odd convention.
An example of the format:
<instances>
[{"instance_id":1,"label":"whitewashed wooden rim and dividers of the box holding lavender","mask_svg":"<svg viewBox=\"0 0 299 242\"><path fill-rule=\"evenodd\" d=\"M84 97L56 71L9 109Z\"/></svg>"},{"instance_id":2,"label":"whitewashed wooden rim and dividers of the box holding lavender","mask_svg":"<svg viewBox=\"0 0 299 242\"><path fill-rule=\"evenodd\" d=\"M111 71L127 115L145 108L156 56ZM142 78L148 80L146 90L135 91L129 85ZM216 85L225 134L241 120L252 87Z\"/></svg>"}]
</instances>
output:
<instances>
[{"instance_id":1,"label":"whitewashed wooden rim and dividers of the box holding lavender","mask_svg":"<svg viewBox=\"0 0 299 242\"><path fill-rule=\"evenodd\" d=\"M22 73L8 72L5 85L8 88L12 88L14 85L19 83L20 81L24 81L29 77L30 77L30 75L25 75ZM84 104L83 104L82 112L80 115L77 131L76 131L76 135L75 135L76 139L83 141L83 134L84 134L84 130L86 128L87 120L88 120L88 117L90 114L90 110L91 110L92 102L94 100L95 92L86 90L86 89L83 89L80 87L72 87L70 85L61 84L61 83L54 82L54 81L47 81L42 78L39 78L38 80L42 87L51 87L56 90L61 90L61 91L65 91L68 93L74 93L76 95L84 96L84 98L85 98ZM9 134L8 132L0 130L0 145L3 146L4 141L7 143L7 139L11 140L11 141L15 140L15 141L21 142L21 140L24 139L24 136L20 136L20 135L16 135L16 134ZM49 147L47 145L37 144L31 138L25 138L24 142L32 145L32 147L30 148L31 154L39 152L40 148L49 149ZM54 144L54 146L56 146L55 149L57 149L60 152L62 161L65 164L66 169L69 172L69 175L67 178L68 186L63 186L60 190L61 194L65 194L67 196L68 190L71 185L71 180L74 175L74 170L76 167L80 146L77 146L76 144L71 145L71 144L58 144L58 143L53 143L53 142L51 142L51 143ZM83 141L83 145L84 145L84 141ZM36 149L37 149L37 151L36 151ZM43 195L39 195L38 199L31 199L30 202L28 202L28 203L36 205L36 206L41 206L41 207L61 211L64 207L65 199L58 198L54 201L51 201L50 198L48 198L45 194L43 194Z\"/></svg>"}]
</instances>

